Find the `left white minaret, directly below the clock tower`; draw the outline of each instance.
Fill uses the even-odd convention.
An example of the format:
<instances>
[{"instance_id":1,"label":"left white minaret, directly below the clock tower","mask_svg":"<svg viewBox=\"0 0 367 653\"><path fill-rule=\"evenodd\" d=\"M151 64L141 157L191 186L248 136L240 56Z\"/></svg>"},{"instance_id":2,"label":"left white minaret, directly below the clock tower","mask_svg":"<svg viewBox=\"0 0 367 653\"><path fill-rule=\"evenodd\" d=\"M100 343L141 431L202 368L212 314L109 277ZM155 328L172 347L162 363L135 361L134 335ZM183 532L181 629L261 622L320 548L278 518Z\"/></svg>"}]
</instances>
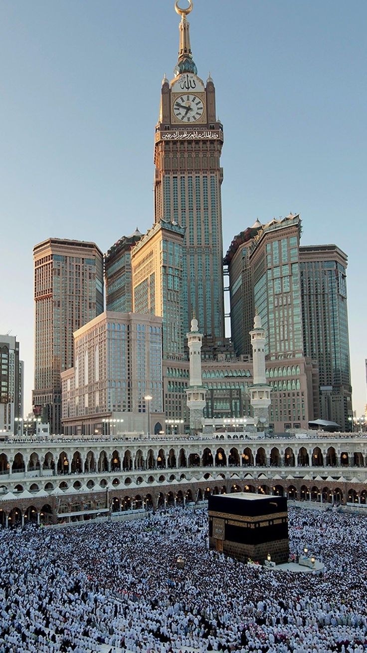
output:
<instances>
[{"instance_id":1,"label":"left white minaret, directly below the clock tower","mask_svg":"<svg viewBox=\"0 0 367 653\"><path fill-rule=\"evenodd\" d=\"M205 388L201 381L201 345L203 343L203 334L199 333L196 317L193 317L191 321L191 329L186 334L186 338L190 360L190 382L188 389L186 389L186 403L190 410L190 429L198 431L203 428Z\"/></svg>"}]
</instances>

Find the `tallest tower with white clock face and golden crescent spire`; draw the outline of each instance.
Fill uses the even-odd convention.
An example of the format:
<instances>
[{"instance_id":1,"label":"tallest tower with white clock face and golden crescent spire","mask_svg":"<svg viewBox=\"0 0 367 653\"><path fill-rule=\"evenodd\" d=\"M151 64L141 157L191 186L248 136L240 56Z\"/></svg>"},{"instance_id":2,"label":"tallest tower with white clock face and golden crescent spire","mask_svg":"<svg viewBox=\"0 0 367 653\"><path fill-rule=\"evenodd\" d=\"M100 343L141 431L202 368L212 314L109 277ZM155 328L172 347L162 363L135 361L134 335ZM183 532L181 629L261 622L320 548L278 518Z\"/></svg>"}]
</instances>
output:
<instances>
[{"instance_id":1,"label":"tallest tower with white clock face and golden crescent spire","mask_svg":"<svg viewBox=\"0 0 367 653\"><path fill-rule=\"evenodd\" d=\"M174 78L162 81L154 143L154 222L184 227L183 332L198 317L204 344L224 338L223 241L220 153L222 123L216 118L215 89L209 74L199 78L192 59L189 7L175 10L179 58ZM169 261L167 262L169 266Z\"/></svg>"}]
</instances>

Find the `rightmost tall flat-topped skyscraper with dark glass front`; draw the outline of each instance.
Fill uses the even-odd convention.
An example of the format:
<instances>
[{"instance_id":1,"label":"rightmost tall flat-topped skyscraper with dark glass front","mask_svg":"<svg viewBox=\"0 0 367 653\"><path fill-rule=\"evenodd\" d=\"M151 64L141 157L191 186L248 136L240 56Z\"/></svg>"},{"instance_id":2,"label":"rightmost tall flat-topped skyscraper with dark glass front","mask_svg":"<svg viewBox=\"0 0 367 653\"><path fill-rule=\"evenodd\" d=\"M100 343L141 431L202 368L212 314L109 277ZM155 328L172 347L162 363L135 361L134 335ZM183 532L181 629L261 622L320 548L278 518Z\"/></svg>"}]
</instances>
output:
<instances>
[{"instance_id":1,"label":"rightmost tall flat-topped skyscraper with dark glass front","mask_svg":"<svg viewBox=\"0 0 367 653\"><path fill-rule=\"evenodd\" d=\"M304 353L319 365L319 416L351 430L347 255L336 245L299 251Z\"/></svg>"}]
</instances>

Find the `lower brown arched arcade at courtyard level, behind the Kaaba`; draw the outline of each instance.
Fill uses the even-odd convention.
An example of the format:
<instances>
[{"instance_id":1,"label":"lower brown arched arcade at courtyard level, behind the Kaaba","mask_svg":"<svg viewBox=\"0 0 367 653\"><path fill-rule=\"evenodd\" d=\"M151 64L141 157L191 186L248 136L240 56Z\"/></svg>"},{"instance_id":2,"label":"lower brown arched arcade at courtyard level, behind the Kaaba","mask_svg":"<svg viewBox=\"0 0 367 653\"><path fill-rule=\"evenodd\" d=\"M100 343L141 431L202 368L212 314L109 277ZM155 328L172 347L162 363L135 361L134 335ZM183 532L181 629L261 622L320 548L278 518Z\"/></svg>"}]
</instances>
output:
<instances>
[{"instance_id":1,"label":"lower brown arched arcade at courtyard level, behind the Kaaba","mask_svg":"<svg viewBox=\"0 0 367 653\"><path fill-rule=\"evenodd\" d=\"M367 505L366 486L358 483L327 483L326 481L304 481L304 479L213 479L208 474L205 481L184 482L183 485L153 485L137 488L126 488L115 485L108 495L106 492L91 492L83 494L67 494L56 500L50 496L49 502L42 503L12 500L0 504L0 526L17 528L28 523L57 524L86 520L104 514L104 517L118 515L125 511L136 509L156 510L172 505L187 505L188 503L206 500L211 494L228 494L229 492L249 492L252 494L271 494L286 496L289 500L307 501L326 505ZM108 496L108 499L106 499Z\"/></svg>"}]
</instances>

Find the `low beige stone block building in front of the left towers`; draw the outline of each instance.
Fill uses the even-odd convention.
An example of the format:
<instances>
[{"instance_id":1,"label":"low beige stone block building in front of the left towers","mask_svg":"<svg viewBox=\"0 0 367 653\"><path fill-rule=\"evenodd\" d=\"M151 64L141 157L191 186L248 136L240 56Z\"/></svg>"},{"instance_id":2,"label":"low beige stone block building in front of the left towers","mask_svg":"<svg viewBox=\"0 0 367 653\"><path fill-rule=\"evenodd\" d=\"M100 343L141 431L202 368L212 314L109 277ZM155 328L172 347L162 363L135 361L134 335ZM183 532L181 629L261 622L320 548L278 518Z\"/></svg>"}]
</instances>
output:
<instances>
[{"instance_id":1,"label":"low beige stone block building in front of the left towers","mask_svg":"<svg viewBox=\"0 0 367 653\"><path fill-rule=\"evenodd\" d=\"M61 375L66 435L162 430L160 317L105 311L74 333L74 349Z\"/></svg>"}]
</instances>

